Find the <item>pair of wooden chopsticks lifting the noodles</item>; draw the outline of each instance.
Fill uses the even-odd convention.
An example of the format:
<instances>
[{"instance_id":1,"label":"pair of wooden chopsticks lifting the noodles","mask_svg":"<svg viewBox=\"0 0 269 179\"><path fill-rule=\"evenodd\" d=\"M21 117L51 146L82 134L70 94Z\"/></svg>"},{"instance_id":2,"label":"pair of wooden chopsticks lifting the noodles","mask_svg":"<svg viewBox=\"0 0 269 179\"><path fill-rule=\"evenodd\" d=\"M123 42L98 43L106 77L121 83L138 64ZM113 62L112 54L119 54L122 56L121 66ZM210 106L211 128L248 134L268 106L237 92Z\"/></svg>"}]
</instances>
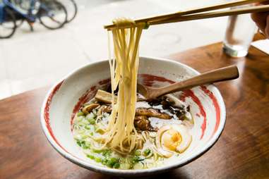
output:
<instances>
[{"instance_id":1,"label":"pair of wooden chopsticks lifting the noodles","mask_svg":"<svg viewBox=\"0 0 269 179\"><path fill-rule=\"evenodd\" d=\"M155 16L150 18L143 18L135 20L136 24L138 23L145 23L146 26L148 25L158 25L163 23L176 23L186 20L196 20L196 19L203 19L203 18L216 18L216 17L222 17L222 16L232 16L232 15L238 15L238 14L244 14L244 13L258 13L258 12L264 12L269 11L269 5L263 5L263 6L250 6L250 7L244 7L244 8L236 8L236 9L230 9L226 11L213 11L218 10L222 8L231 8L234 6L241 6L246 4L253 4L253 3L260 3L266 0L240 0L240 1L232 1L225 4L217 4L214 6L205 6L202 8L193 8L188 11L181 11L178 13L170 13L165 14L162 16ZM208 12L210 11L210 12ZM116 27L116 25L105 25L104 28L107 30L111 30L112 28ZM128 28L131 26L123 26L122 28Z\"/></svg>"}]
</instances>

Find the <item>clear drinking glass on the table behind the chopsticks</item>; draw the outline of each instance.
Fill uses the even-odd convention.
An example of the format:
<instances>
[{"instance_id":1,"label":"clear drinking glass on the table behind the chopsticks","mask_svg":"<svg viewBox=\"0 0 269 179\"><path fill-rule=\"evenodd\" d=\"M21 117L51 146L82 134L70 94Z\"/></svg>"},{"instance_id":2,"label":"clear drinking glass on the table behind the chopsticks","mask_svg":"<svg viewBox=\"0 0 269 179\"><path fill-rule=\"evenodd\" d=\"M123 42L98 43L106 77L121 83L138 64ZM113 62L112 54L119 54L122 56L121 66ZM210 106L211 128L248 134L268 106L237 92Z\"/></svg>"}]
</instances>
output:
<instances>
[{"instance_id":1,"label":"clear drinking glass on the table behind the chopsticks","mask_svg":"<svg viewBox=\"0 0 269 179\"><path fill-rule=\"evenodd\" d=\"M223 50L229 56L246 56L256 31L257 27L249 13L229 16Z\"/></svg>"}]
</instances>

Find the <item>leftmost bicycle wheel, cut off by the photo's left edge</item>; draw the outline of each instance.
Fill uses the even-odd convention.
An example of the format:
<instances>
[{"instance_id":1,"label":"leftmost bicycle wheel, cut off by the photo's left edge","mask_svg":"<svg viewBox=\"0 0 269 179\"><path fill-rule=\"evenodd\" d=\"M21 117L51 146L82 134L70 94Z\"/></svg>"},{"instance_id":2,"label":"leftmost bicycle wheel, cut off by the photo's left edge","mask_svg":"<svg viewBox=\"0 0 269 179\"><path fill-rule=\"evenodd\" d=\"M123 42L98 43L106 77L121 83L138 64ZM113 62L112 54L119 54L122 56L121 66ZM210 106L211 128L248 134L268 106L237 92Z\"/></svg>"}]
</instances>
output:
<instances>
[{"instance_id":1,"label":"leftmost bicycle wheel, cut off by the photo's left edge","mask_svg":"<svg viewBox=\"0 0 269 179\"><path fill-rule=\"evenodd\" d=\"M16 18L9 8L4 8L3 22L0 22L0 39L11 37L16 31Z\"/></svg>"}]
</instances>

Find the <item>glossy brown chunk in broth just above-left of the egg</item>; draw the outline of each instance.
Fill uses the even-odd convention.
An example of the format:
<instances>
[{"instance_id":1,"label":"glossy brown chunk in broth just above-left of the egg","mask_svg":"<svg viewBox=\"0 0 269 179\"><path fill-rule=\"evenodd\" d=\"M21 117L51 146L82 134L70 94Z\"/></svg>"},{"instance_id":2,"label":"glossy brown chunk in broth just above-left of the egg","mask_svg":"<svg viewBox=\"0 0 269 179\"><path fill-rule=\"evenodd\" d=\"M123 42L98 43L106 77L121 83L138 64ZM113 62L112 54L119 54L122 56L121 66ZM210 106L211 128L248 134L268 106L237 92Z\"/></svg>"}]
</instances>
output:
<instances>
[{"instance_id":1,"label":"glossy brown chunk in broth just above-left of the egg","mask_svg":"<svg viewBox=\"0 0 269 179\"><path fill-rule=\"evenodd\" d=\"M151 132L156 132L157 128L153 128L152 125L150 125L150 121L148 120L147 116L136 116L135 117L135 121L134 121L134 125L136 127L136 129L138 130L148 130Z\"/></svg>"}]
</instances>

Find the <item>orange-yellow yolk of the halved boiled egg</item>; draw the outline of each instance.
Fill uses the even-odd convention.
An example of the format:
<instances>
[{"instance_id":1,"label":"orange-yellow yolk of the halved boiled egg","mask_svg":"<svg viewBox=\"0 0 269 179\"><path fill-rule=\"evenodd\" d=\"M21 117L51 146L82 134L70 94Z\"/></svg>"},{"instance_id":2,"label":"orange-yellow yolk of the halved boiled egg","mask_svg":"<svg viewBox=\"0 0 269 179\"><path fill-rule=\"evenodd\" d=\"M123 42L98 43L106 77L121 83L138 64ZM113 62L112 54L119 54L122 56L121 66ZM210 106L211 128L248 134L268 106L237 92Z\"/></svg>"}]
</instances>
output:
<instances>
[{"instance_id":1,"label":"orange-yellow yolk of the halved boiled egg","mask_svg":"<svg viewBox=\"0 0 269 179\"><path fill-rule=\"evenodd\" d=\"M181 142L182 137L177 130L169 129L162 135L162 144L171 151L176 151Z\"/></svg>"}]
</instances>

